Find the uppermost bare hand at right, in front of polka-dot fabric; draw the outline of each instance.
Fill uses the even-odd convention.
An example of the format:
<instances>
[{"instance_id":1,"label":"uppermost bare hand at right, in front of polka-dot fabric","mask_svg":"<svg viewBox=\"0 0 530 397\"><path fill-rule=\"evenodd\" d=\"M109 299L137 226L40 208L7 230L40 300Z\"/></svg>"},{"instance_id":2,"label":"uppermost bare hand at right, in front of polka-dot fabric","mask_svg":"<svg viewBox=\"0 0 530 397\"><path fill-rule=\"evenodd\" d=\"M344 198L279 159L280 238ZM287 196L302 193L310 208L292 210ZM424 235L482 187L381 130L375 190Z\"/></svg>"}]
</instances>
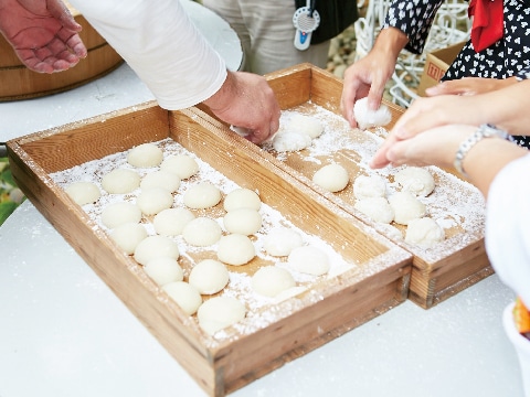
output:
<instances>
[{"instance_id":1,"label":"uppermost bare hand at right, in front of polka-dot fabric","mask_svg":"<svg viewBox=\"0 0 530 397\"><path fill-rule=\"evenodd\" d=\"M484 78L463 77L454 81L442 82L425 90L427 96L437 95L477 95L506 88L517 83L516 77L509 78Z\"/></svg>"}]
</instances>

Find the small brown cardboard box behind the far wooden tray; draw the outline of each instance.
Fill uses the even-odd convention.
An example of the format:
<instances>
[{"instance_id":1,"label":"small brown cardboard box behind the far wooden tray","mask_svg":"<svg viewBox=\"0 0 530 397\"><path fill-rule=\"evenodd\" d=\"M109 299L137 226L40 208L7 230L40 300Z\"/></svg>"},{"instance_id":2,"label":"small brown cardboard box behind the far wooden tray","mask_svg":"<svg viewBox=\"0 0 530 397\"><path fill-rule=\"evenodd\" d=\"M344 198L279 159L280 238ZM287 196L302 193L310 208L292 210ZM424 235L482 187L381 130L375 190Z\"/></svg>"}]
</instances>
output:
<instances>
[{"instance_id":1,"label":"small brown cardboard box behind the far wooden tray","mask_svg":"<svg viewBox=\"0 0 530 397\"><path fill-rule=\"evenodd\" d=\"M422 78L417 86L417 95L425 96L425 89L439 83L465 44L466 42L459 42L427 54Z\"/></svg>"}]
</instances>

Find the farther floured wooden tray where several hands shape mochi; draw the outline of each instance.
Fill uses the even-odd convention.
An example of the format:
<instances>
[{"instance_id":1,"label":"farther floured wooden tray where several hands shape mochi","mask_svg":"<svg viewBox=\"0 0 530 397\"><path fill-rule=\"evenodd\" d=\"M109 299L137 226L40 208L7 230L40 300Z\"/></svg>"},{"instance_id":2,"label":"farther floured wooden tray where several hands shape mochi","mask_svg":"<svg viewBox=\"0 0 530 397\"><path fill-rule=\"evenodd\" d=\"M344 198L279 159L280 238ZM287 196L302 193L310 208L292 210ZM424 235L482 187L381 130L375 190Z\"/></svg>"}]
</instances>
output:
<instances>
[{"instance_id":1,"label":"farther floured wooden tray where several hands shape mochi","mask_svg":"<svg viewBox=\"0 0 530 397\"><path fill-rule=\"evenodd\" d=\"M312 182L312 174L327 162L342 164L349 171L350 182L360 174L372 172L368 160L383 141L386 129L390 130L402 115L403 108L385 101L392 111L391 124L383 130L360 131L351 129L340 116L342 81L330 73L310 64L301 64L272 73L267 78L284 112L319 117L326 122L326 130L322 137L314 140L312 149L278 153L271 146L263 144L263 157L413 254L412 301L428 309L494 272L484 245L483 196L475 186L451 172L430 168L436 189L428 196L427 213L436 212L438 219L446 217L443 221L447 224L445 242L431 249L394 238L386 227L358 212L353 207L356 198L352 183L344 191L328 193ZM329 138L331 136L332 140ZM395 171L379 171L389 183L393 182L392 172ZM400 228L404 232L404 227Z\"/></svg>"}]
</instances>

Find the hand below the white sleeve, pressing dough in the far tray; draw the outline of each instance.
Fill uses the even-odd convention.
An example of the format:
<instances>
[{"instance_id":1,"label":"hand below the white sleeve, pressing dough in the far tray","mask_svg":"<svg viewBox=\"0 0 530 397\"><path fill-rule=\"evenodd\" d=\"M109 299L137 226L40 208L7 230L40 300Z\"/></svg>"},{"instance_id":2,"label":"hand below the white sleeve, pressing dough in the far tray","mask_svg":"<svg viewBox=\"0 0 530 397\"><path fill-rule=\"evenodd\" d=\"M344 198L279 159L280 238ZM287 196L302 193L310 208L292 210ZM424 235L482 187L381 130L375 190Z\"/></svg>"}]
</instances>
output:
<instances>
[{"instance_id":1,"label":"hand below the white sleeve, pressing dough in the far tray","mask_svg":"<svg viewBox=\"0 0 530 397\"><path fill-rule=\"evenodd\" d=\"M229 72L221 89L204 100L221 120L244 128L253 143L262 143L279 128L280 109L265 77Z\"/></svg>"}]
</instances>

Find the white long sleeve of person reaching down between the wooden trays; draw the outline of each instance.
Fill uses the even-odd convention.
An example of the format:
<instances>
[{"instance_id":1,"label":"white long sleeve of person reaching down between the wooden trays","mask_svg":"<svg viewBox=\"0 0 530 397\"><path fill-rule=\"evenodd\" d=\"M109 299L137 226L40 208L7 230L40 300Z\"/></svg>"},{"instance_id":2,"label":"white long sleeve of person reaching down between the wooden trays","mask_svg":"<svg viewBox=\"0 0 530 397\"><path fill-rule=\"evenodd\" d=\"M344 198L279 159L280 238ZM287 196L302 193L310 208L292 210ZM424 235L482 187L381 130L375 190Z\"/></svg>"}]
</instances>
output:
<instances>
[{"instance_id":1,"label":"white long sleeve of person reaching down between the wooden trays","mask_svg":"<svg viewBox=\"0 0 530 397\"><path fill-rule=\"evenodd\" d=\"M224 61L195 29L180 0L68 2L121 55L161 107L197 105L224 83Z\"/></svg>"}]
</instances>

